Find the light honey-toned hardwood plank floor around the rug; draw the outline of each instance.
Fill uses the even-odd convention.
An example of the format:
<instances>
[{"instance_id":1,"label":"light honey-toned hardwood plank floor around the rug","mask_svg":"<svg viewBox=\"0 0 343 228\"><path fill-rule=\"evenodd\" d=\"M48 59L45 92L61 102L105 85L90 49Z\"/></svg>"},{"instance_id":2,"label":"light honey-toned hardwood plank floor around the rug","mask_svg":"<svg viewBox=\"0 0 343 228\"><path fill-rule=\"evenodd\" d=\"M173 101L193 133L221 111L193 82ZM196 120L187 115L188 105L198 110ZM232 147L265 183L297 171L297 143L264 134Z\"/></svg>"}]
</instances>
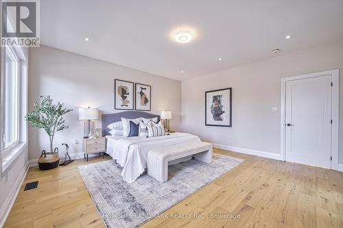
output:
<instances>
[{"instance_id":1,"label":"light honey-toned hardwood plank floor around the rug","mask_svg":"<svg viewBox=\"0 0 343 228\"><path fill-rule=\"evenodd\" d=\"M343 227L343 173L214 151L246 162L142 227ZM30 168L5 227L104 227L78 173L83 164ZM35 180L38 188L23 192Z\"/></svg>"}]
</instances>

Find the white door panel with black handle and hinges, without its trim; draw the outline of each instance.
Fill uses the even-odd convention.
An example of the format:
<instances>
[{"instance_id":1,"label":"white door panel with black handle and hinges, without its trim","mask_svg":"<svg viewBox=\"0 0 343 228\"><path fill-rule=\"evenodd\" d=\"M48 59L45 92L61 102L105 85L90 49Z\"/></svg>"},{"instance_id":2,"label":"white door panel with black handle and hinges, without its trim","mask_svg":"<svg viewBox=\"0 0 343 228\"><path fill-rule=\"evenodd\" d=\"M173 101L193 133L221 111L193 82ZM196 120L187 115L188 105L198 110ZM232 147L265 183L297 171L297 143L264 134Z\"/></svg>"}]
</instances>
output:
<instances>
[{"instance_id":1,"label":"white door panel with black handle and hinges, without its trim","mask_svg":"<svg viewBox=\"0 0 343 228\"><path fill-rule=\"evenodd\" d=\"M286 81L286 161L331 168L331 88L331 75Z\"/></svg>"}]
</instances>

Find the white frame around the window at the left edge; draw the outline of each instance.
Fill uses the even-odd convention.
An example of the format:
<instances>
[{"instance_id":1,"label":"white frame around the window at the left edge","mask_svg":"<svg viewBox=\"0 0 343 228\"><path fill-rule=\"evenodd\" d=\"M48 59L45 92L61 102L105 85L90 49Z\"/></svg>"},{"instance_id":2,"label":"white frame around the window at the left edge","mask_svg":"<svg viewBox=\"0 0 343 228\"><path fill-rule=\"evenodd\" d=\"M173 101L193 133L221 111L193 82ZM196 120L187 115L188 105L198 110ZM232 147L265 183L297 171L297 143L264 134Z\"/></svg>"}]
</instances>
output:
<instances>
[{"instance_id":1,"label":"white frame around the window at the left edge","mask_svg":"<svg viewBox=\"0 0 343 228\"><path fill-rule=\"evenodd\" d=\"M6 61L6 55L8 55L7 53L10 53L10 58L12 59L12 61L16 62L16 66L14 66L14 68L11 69L11 71L15 70L16 72L16 85L15 85L15 89L16 91L14 92L15 97L12 98L13 103L16 103L16 122L15 122L15 130L14 130L14 138L15 140L12 142L9 142L6 144L6 142L4 143L4 155L6 155L6 153L9 153L10 151L12 151L13 149L15 149L19 143L21 142L21 121L20 121L20 116L21 116L21 60L18 56L18 54L16 53L16 51L14 50L13 47L5 47L5 61ZM4 62L5 62L4 61ZM6 64L6 63L5 63ZM4 73L6 74L6 70L4 67ZM6 80L6 75L5 75L5 80ZM5 81L5 85L6 85L6 81ZM4 91L4 103L7 102L7 98L6 98L6 91ZM5 105L4 105L5 107ZM6 112L6 111L5 111ZM4 114L3 116L4 121L6 121L6 114ZM5 127L5 126L4 126ZM4 134L6 134L6 132L4 132Z\"/></svg>"}]
</instances>

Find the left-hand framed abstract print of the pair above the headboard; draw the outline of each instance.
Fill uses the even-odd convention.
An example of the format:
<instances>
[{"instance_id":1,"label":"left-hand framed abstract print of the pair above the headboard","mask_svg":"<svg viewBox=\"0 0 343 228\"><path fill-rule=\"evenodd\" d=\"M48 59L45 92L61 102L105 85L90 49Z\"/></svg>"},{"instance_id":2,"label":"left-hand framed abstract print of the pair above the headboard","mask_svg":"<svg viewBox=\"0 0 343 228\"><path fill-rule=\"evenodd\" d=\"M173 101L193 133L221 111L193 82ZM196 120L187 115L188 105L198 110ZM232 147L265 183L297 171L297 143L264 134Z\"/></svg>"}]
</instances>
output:
<instances>
[{"instance_id":1,"label":"left-hand framed abstract print of the pair above the headboard","mask_svg":"<svg viewBox=\"0 0 343 228\"><path fill-rule=\"evenodd\" d=\"M115 79L115 109L133 110L133 82Z\"/></svg>"}]
</instances>

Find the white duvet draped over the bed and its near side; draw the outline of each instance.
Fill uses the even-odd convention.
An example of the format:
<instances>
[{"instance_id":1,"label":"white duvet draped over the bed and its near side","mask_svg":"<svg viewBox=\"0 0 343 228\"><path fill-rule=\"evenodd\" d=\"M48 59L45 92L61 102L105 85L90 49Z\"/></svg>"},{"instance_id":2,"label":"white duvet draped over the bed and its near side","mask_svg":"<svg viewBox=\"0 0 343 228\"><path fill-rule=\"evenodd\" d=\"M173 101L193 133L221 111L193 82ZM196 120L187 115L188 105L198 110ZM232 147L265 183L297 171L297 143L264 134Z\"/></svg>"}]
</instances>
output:
<instances>
[{"instance_id":1,"label":"white duvet draped over the bed and its near side","mask_svg":"<svg viewBox=\"0 0 343 228\"><path fill-rule=\"evenodd\" d=\"M132 183L147 168L147 152L151 149L197 141L200 142L198 136L187 133L174 133L153 138L121 138L115 143L113 151L109 152L113 159L116 159L120 166L123 167L121 172L123 180Z\"/></svg>"}]
</instances>

